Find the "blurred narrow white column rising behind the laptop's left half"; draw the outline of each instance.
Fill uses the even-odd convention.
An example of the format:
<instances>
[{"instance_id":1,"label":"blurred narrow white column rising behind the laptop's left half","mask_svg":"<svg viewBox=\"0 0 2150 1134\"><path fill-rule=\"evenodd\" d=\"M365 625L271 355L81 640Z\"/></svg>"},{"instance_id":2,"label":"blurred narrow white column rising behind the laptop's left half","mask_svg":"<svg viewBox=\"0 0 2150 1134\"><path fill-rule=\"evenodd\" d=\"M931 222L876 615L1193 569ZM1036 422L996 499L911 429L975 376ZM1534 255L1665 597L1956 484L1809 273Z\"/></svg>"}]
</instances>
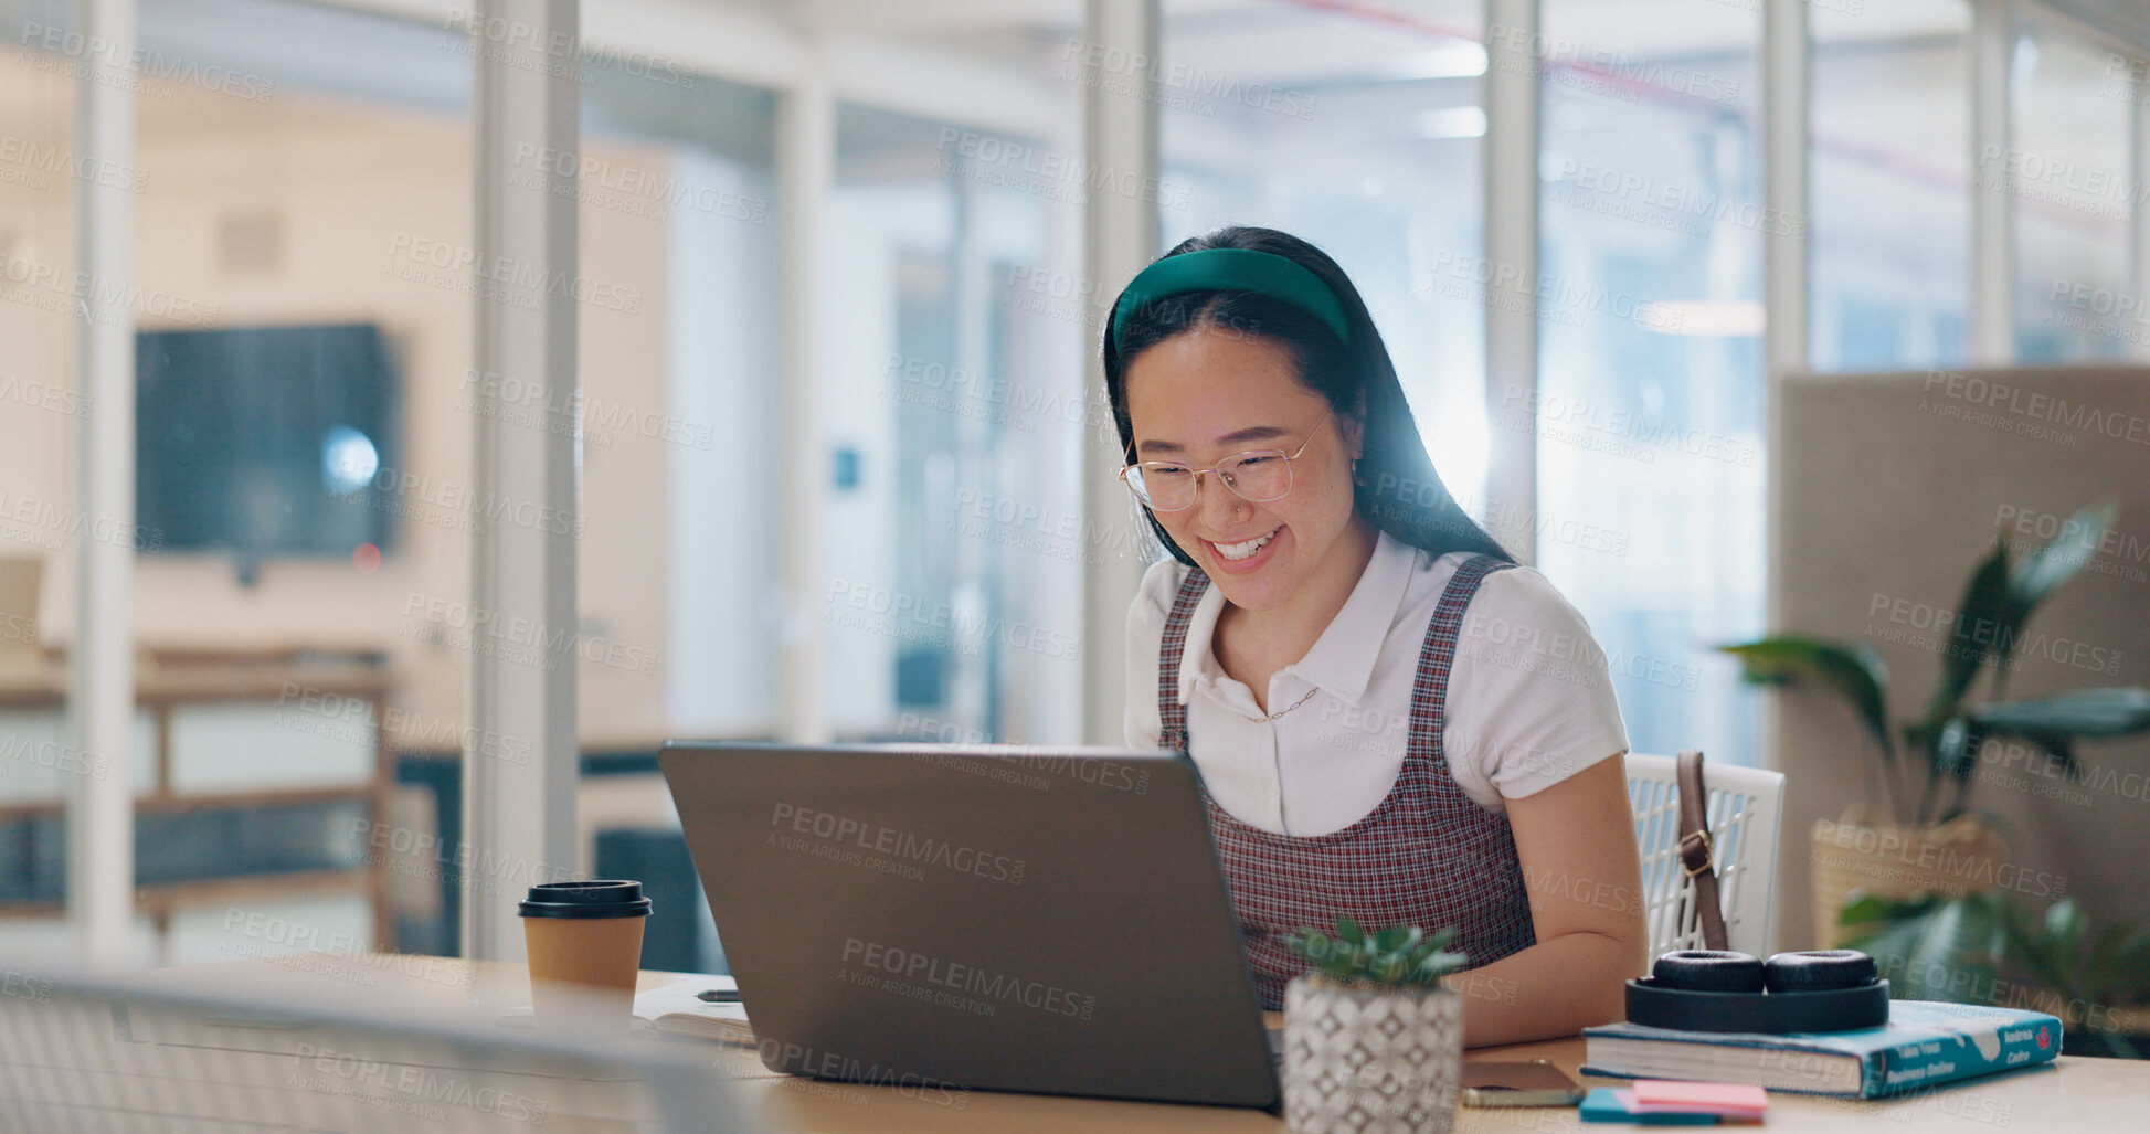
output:
<instances>
[{"instance_id":1,"label":"blurred narrow white column rising behind the laptop's left half","mask_svg":"<svg viewBox=\"0 0 2150 1134\"><path fill-rule=\"evenodd\" d=\"M838 334L823 312L823 235L836 183L836 99L821 73L821 52L806 52L806 73L776 103L776 200L783 250L783 549L780 674L783 738L828 740L821 708L821 497L828 445L821 441L821 336Z\"/></svg>"}]
</instances>

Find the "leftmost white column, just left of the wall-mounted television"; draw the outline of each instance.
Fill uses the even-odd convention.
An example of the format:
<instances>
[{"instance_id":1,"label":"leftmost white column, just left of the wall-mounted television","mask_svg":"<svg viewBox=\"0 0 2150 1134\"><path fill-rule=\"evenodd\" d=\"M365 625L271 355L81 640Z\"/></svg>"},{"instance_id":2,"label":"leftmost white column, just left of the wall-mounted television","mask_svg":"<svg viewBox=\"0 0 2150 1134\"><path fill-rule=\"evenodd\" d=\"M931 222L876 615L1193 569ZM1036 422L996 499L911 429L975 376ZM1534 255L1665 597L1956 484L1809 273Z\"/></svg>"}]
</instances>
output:
<instances>
[{"instance_id":1,"label":"leftmost white column, just left of the wall-mounted television","mask_svg":"<svg viewBox=\"0 0 2150 1134\"><path fill-rule=\"evenodd\" d=\"M82 58L75 146L82 161L133 166L135 114L123 62L133 54L135 0L75 4L84 37L110 49ZM86 288L77 508L90 523L75 542L75 641L69 648L67 734L105 775L75 777L67 794L67 917L80 958L99 968L127 964L133 921L133 544L95 531L133 531L133 194L80 181L75 217Z\"/></svg>"}]
</instances>

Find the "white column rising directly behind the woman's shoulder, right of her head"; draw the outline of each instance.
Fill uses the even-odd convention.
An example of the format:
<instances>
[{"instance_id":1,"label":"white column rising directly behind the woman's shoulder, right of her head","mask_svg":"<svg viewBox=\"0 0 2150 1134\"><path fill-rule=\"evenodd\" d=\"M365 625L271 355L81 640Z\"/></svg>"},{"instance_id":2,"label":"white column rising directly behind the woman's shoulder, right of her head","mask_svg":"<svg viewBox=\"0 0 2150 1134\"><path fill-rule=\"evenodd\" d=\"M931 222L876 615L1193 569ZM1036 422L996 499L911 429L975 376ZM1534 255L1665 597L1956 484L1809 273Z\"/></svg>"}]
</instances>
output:
<instances>
[{"instance_id":1,"label":"white column rising directly behind the woman's shoulder, right of her head","mask_svg":"<svg viewBox=\"0 0 2150 1134\"><path fill-rule=\"evenodd\" d=\"M1505 389L1537 394L1537 0L1486 0L1486 415ZM1526 400L1524 405L1535 405ZM1488 430L1486 514L1537 514L1537 435ZM1537 559L1535 525L1503 531L1522 562Z\"/></svg>"}]
</instances>

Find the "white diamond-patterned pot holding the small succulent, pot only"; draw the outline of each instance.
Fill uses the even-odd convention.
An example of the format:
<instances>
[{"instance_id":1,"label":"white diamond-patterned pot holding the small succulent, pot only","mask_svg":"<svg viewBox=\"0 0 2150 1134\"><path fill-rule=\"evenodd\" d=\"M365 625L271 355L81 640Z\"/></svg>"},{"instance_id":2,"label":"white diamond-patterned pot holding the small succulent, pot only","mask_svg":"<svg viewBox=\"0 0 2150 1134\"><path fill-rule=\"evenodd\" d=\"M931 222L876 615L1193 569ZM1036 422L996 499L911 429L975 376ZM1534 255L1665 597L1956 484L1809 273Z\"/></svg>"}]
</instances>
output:
<instances>
[{"instance_id":1,"label":"white diamond-patterned pot holding the small succulent, pot only","mask_svg":"<svg viewBox=\"0 0 2150 1134\"><path fill-rule=\"evenodd\" d=\"M1438 988L1284 988L1284 1121L1294 1134L1445 1134L1456 1123L1464 1003Z\"/></svg>"}]
</instances>

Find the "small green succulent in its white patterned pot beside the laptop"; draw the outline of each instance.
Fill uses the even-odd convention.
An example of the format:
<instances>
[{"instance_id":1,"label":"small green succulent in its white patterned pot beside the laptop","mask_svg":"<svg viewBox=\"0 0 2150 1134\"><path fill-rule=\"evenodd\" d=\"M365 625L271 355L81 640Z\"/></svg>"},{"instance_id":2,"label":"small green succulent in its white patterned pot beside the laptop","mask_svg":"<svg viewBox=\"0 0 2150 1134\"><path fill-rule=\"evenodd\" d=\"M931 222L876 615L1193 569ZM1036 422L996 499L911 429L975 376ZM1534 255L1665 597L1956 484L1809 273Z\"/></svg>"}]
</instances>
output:
<instances>
[{"instance_id":1,"label":"small green succulent in its white patterned pot beside the laptop","mask_svg":"<svg viewBox=\"0 0 2150 1134\"><path fill-rule=\"evenodd\" d=\"M1314 966L1284 988L1284 1119L1296 1134L1445 1132L1462 1072L1462 998L1440 977L1466 964L1453 930L1335 934L1286 942Z\"/></svg>"}]
</instances>

